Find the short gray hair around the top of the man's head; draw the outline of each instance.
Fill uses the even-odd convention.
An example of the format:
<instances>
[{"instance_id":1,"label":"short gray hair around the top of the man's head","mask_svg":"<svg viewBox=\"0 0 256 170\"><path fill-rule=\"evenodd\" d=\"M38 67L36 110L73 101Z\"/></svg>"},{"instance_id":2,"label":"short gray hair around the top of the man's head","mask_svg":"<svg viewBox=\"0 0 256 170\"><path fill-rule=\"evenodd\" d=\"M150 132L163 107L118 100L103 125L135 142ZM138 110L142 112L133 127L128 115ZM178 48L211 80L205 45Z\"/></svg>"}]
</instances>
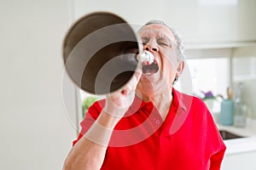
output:
<instances>
[{"instance_id":1,"label":"short gray hair around the top of the man's head","mask_svg":"<svg viewBox=\"0 0 256 170\"><path fill-rule=\"evenodd\" d=\"M164 23L162 20L149 20L144 26L148 26L151 24L160 24L162 26L166 26L167 28L169 28L172 31L173 36L175 37L176 41L177 41L177 57L179 61L182 61L183 59L185 59L185 54L184 54L184 43L183 43L183 38L181 37L181 35L179 33L177 33L177 31L170 27L167 26L166 23ZM143 27L144 27L143 26ZM143 27L141 29L143 29Z\"/></svg>"}]
</instances>

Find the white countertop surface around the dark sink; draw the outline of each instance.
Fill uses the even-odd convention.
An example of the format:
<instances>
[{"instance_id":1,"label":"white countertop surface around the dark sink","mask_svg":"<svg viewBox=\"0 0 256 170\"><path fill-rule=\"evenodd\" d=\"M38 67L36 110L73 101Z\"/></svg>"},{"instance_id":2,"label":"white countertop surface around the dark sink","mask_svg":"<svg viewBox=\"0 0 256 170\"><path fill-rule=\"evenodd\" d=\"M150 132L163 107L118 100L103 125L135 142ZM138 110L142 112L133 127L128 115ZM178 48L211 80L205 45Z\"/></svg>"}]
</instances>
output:
<instances>
[{"instance_id":1,"label":"white countertop surface around the dark sink","mask_svg":"<svg viewBox=\"0 0 256 170\"><path fill-rule=\"evenodd\" d=\"M247 119L246 127L224 126L219 123L217 123L217 127L219 130L244 136L244 138L224 140L227 147L225 155L256 151L256 120Z\"/></svg>"}]
</instances>

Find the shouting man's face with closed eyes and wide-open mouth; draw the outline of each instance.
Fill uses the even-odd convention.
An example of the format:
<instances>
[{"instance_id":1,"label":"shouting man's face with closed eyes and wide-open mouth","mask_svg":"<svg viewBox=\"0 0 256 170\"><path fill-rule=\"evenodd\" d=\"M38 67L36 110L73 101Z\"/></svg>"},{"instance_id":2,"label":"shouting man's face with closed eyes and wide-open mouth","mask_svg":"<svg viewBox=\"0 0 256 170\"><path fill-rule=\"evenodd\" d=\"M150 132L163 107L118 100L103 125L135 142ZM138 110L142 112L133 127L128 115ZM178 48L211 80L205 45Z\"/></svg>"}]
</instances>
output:
<instances>
[{"instance_id":1,"label":"shouting man's face with closed eyes and wide-open mouth","mask_svg":"<svg viewBox=\"0 0 256 170\"><path fill-rule=\"evenodd\" d=\"M143 41L143 49L154 55L154 64L143 66L143 76L139 83L150 82L154 86L168 83L172 87L179 65L177 43L172 31L166 26L152 24L143 27L139 34Z\"/></svg>"}]
</instances>

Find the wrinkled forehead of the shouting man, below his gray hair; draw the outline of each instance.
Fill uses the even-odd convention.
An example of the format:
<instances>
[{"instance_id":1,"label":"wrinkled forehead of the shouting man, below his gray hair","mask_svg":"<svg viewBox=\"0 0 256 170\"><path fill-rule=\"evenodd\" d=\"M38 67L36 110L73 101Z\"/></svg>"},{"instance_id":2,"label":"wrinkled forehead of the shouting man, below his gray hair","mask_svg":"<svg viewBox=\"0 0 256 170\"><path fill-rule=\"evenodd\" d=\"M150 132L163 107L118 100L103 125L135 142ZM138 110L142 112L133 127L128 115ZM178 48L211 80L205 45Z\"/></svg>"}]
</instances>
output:
<instances>
[{"instance_id":1,"label":"wrinkled forehead of the shouting man, below his gray hair","mask_svg":"<svg viewBox=\"0 0 256 170\"><path fill-rule=\"evenodd\" d=\"M177 42L172 31L167 26L161 24L150 24L148 26L144 26L139 31L139 35L141 37L167 37L172 42Z\"/></svg>"}]
</instances>

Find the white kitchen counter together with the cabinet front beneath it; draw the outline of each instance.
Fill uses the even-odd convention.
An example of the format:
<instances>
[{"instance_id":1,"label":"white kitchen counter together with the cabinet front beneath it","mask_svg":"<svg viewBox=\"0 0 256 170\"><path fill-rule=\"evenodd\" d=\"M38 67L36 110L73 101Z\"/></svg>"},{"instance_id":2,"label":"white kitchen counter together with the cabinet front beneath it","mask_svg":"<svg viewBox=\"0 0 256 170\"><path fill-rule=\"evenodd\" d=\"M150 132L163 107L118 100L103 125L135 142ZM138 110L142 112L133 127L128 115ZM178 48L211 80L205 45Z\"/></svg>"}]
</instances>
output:
<instances>
[{"instance_id":1,"label":"white kitchen counter together with the cabinet front beneath it","mask_svg":"<svg viewBox=\"0 0 256 170\"><path fill-rule=\"evenodd\" d=\"M254 170L256 169L256 121L247 119L246 127L218 125L218 129L235 133L244 138L227 139L227 147L221 170Z\"/></svg>"}]
</instances>

